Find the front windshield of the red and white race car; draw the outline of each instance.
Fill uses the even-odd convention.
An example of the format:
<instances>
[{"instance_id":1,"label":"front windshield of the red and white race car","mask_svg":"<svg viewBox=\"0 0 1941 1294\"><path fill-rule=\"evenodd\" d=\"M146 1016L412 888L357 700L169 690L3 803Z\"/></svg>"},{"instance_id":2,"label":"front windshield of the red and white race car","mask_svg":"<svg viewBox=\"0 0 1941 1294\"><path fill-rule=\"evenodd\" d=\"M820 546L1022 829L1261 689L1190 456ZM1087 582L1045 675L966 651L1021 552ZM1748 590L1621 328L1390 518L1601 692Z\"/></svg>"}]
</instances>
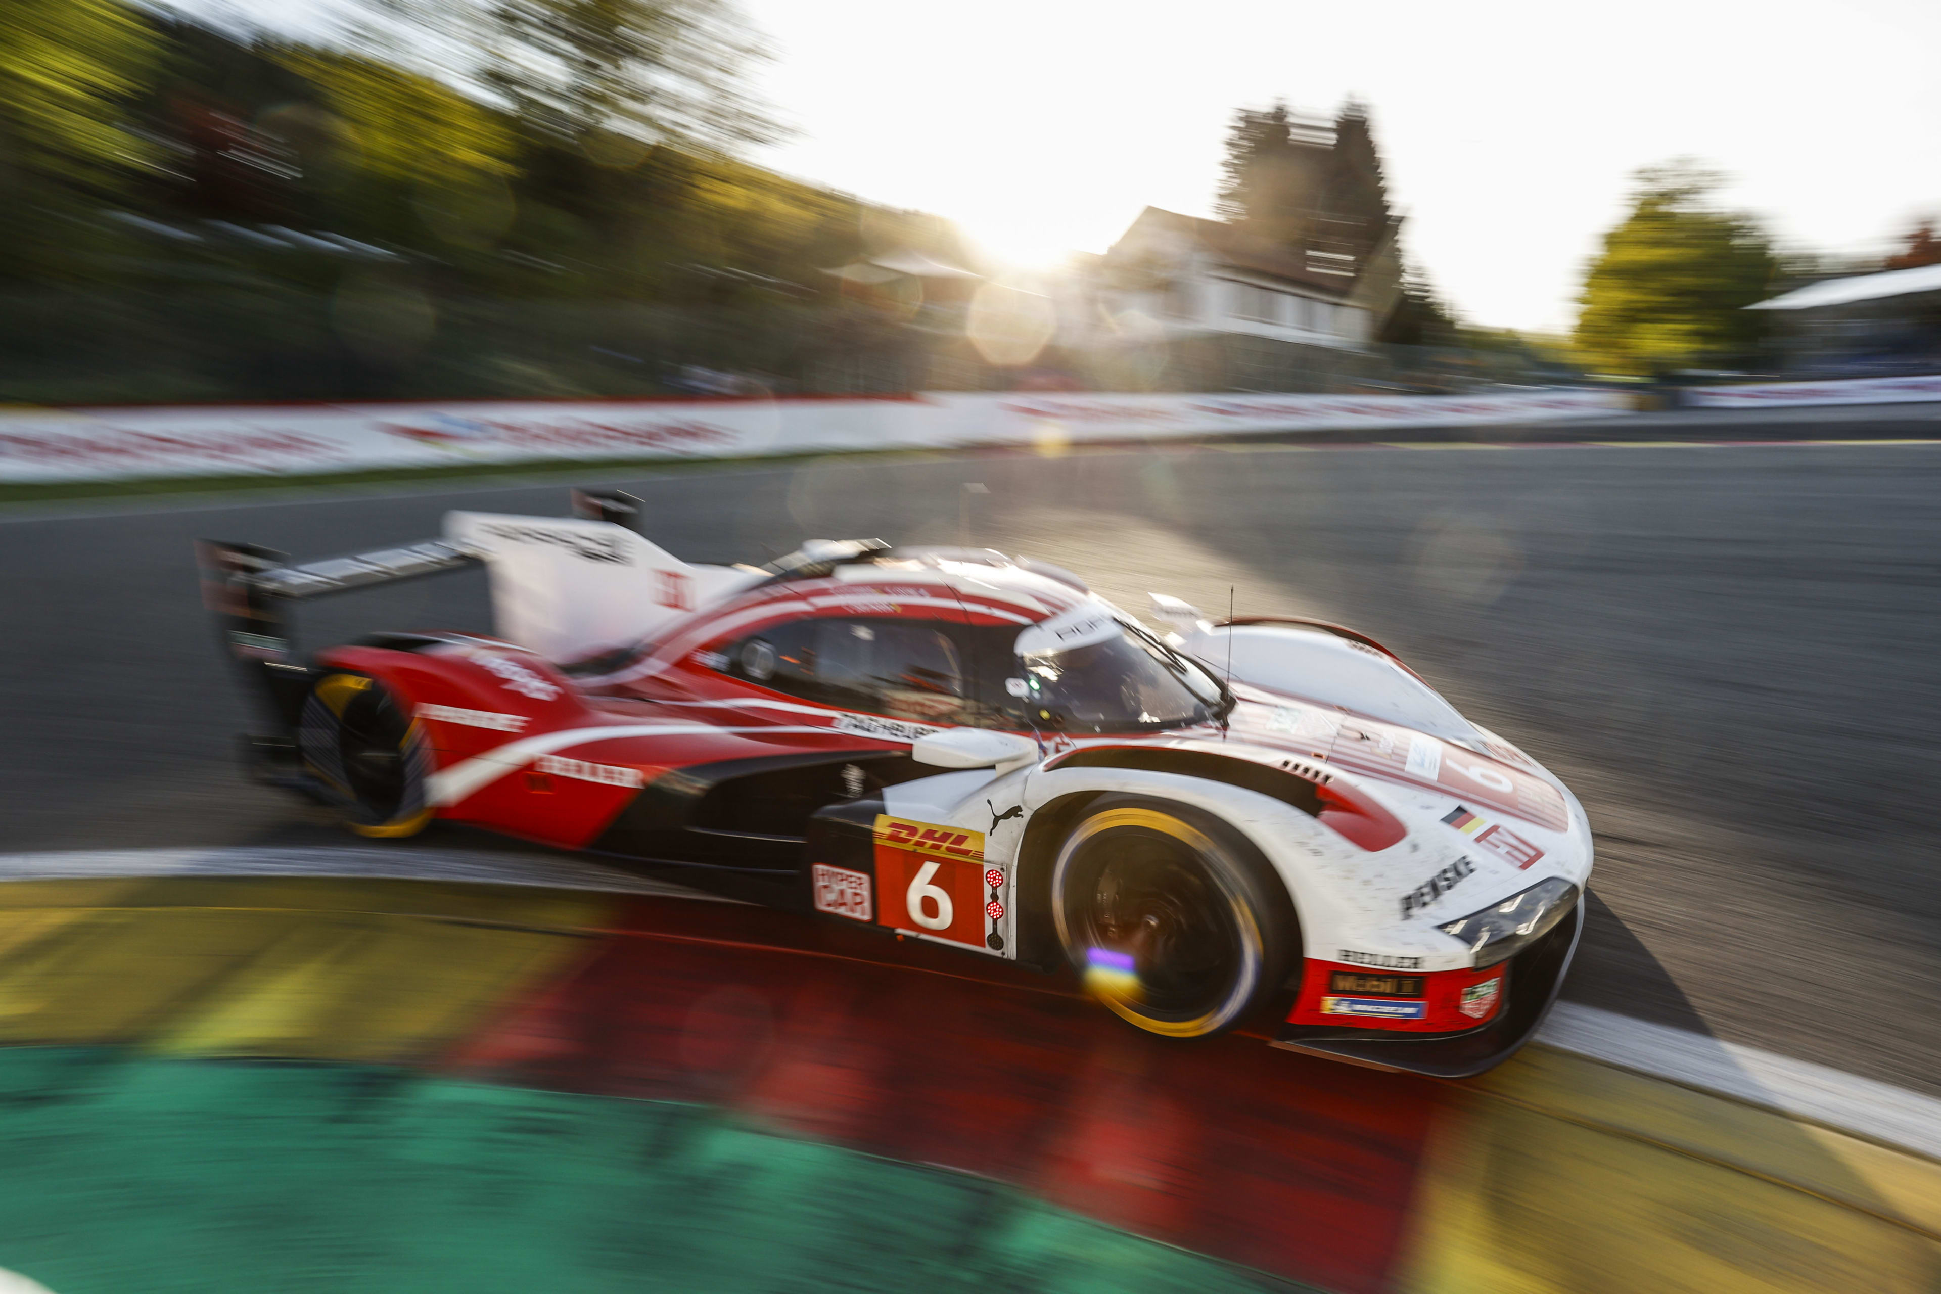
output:
<instances>
[{"instance_id":1,"label":"front windshield of the red and white race car","mask_svg":"<svg viewBox=\"0 0 1941 1294\"><path fill-rule=\"evenodd\" d=\"M1110 733L1207 724L1221 685L1163 642L1114 621L1081 646L1019 658L1023 698L1036 726Z\"/></svg>"}]
</instances>

